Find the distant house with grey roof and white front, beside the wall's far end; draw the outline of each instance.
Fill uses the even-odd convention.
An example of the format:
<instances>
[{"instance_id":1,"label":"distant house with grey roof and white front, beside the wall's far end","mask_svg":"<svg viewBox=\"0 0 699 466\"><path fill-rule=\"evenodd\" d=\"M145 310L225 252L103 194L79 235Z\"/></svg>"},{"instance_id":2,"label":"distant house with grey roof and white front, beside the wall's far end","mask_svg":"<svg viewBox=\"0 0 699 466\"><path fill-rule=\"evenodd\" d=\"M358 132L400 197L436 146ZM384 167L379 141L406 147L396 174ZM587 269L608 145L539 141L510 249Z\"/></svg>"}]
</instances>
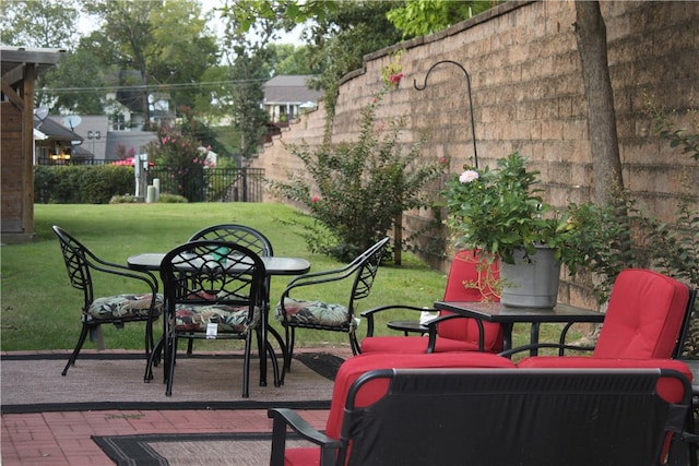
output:
<instances>
[{"instance_id":1,"label":"distant house with grey roof and white front, beside the wall's far end","mask_svg":"<svg viewBox=\"0 0 699 466\"><path fill-rule=\"evenodd\" d=\"M308 87L310 75L274 76L264 84L264 110L272 123L295 120L304 108L316 108L322 91Z\"/></svg>"}]
</instances>

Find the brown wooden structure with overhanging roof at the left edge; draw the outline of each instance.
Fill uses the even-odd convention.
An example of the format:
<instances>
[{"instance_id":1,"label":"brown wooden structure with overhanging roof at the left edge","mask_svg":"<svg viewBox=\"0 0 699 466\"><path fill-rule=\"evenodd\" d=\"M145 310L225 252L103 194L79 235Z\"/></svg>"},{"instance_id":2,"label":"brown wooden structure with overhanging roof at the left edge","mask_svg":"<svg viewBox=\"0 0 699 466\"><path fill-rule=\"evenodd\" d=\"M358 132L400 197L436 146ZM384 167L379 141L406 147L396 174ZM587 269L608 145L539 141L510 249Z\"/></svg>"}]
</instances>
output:
<instances>
[{"instance_id":1,"label":"brown wooden structure with overhanging roof at the left edge","mask_svg":"<svg viewBox=\"0 0 699 466\"><path fill-rule=\"evenodd\" d=\"M34 87L39 71L61 56L59 49L0 48L2 243L34 238Z\"/></svg>"}]
</instances>

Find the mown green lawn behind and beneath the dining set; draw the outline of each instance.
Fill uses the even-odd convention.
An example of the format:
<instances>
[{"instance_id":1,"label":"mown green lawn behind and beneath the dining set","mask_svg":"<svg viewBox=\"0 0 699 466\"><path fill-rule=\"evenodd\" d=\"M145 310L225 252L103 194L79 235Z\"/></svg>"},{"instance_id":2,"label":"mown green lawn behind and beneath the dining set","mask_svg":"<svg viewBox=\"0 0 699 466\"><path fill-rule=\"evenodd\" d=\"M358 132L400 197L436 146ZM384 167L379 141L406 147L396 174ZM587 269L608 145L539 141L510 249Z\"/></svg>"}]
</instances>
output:
<instances>
[{"instance_id":1,"label":"mown green lawn behind and beneath the dining set","mask_svg":"<svg viewBox=\"0 0 699 466\"><path fill-rule=\"evenodd\" d=\"M98 256L126 263L141 252L165 252L185 242L191 234L214 224L238 223L259 229L269 237L279 255L300 256L310 261L311 271L334 268L341 263L311 253L300 236L309 218L298 211L275 203L198 203L198 204L114 204L114 205L35 205L36 241L28 244L2 246L1 349L40 350L72 349L80 332L82 294L70 287L58 240L51 231L59 225L79 238ZM371 295L360 301L362 310L387 303L431 306L441 299L446 275L429 268L412 254L404 254L403 265L382 265ZM97 296L132 290L127 279L109 276L99 280ZM287 277L273 277L271 297L281 296ZM342 302L344 290L328 290L325 300ZM274 304L274 302L273 302ZM393 314L391 319L415 318ZM387 320L384 318L384 320ZM379 334L389 334L384 320L377 323ZM280 326L273 322L273 325ZM159 330L159 325L156 326ZM366 332L359 327L359 336ZM542 328L542 340L554 337L556 327ZM141 349L143 324L129 324L123 330L106 325L103 330L107 348ZM529 338L528 328L516 328L514 344ZM347 345L344 333L299 331L297 346ZM222 349L224 342L201 342L198 347ZM85 348L94 347L87 342Z\"/></svg>"}]
</instances>

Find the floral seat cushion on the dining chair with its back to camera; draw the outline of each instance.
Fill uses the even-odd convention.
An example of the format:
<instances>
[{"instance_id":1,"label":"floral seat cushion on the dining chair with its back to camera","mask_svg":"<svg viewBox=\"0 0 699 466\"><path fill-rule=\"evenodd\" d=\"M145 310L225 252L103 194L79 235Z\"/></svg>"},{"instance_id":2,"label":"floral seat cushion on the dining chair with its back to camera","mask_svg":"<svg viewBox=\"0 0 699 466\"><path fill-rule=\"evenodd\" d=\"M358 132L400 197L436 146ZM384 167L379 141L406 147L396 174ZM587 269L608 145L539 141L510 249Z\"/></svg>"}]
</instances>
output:
<instances>
[{"instance_id":1,"label":"floral seat cushion on the dining chair with its back to camera","mask_svg":"<svg viewBox=\"0 0 699 466\"><path fill-rule=\"evenodd\" d=\"M248 321L248 307L227 304L177 304L175 328L178 332L206 332L210 323L218 324L220 333L246 333L260 322L260 310L254 309L252 322Z\"/></svg>"}]
</instances>

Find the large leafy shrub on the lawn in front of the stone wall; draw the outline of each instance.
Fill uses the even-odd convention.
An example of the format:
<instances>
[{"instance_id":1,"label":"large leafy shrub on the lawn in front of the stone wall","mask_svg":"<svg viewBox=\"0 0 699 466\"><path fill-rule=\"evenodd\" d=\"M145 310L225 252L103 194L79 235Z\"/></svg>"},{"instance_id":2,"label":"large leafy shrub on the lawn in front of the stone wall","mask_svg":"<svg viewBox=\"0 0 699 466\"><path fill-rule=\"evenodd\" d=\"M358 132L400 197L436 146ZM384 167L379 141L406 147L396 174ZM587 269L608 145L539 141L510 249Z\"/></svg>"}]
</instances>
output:
<instances>
[{"instance_id":1,"label":"large leafy shrub on the lawn in front of the stone wall","mask_svg":"<svg viewBox=\"0 0 699 466\"><path fill-rule=\"evenodd\" d=\"M356 142L288 146L312 183L297 175L270 183L277 195L305 205L317 222L306 234L313 252L350 260L384 237L404 211L430 204L423 189L441 176L443 160L422 157L424 136L403 150L404 117L377 120L384 92L363 112Z\"/></svg>"}]
</instances>

